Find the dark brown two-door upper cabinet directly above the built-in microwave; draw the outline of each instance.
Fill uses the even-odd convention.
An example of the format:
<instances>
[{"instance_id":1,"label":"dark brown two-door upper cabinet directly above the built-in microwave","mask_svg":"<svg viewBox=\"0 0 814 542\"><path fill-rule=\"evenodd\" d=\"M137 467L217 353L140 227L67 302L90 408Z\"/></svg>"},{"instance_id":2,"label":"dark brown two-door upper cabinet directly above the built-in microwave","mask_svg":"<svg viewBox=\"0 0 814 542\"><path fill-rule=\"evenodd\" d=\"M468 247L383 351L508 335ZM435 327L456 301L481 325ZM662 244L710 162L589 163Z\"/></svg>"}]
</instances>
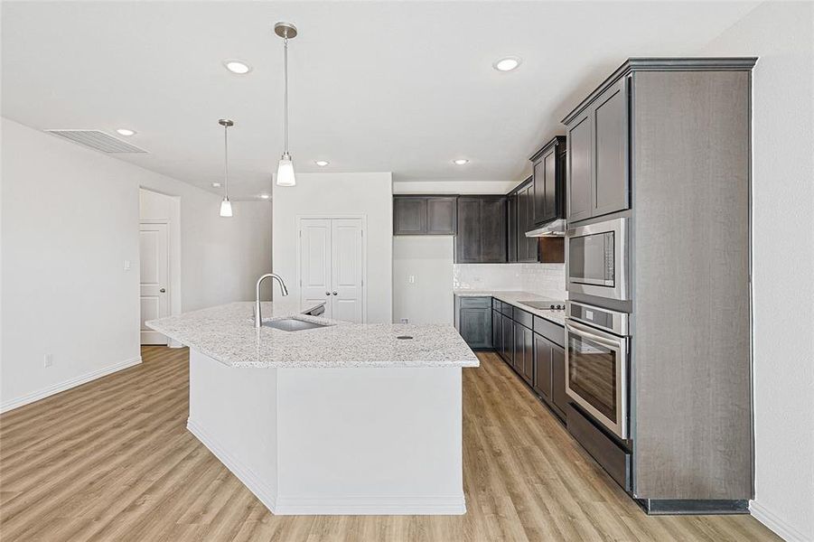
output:
<instances>
[{"instance_id":1,"label":"dark brown two-door upper cabinet directly above the built-in microwave","mask_svg":"<svg viewBox=\"0 0 814 542\"><path fill-rule=\"evenodd\" d=\"M629 81L622 77L566 117L568 222L630 208Z\"/></svg>"}]
</instances>

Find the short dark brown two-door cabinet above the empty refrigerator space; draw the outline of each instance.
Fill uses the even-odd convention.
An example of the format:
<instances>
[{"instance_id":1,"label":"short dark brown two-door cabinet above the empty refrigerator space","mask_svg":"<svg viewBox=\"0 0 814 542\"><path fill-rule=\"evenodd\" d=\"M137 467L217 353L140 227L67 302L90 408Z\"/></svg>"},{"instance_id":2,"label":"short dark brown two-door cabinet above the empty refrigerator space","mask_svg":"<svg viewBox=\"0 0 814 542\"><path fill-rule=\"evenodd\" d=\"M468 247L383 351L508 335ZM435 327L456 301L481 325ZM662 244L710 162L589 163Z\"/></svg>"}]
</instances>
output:
<instances>
[{"instance_id":1,"label":"short dark brown two-door cabinet above the empty refrigerator space","mask_svg":"<svg viewBox=\"0 0 814 542\"><path fill-rule=\"evenodd\" d=\"M393 196L393 235L454 235L457 196Z\"/></svg>"}]
</instances>

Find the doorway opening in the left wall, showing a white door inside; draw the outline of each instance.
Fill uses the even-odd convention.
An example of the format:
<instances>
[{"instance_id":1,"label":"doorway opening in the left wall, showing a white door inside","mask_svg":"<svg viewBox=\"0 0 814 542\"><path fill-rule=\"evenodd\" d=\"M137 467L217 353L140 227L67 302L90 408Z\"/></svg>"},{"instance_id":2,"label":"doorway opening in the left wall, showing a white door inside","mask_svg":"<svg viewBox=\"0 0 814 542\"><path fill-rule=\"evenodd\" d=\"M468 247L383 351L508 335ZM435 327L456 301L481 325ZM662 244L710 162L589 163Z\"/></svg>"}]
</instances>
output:
<instances>
[{"instance_id":1,"label":"doorway opening in the left wall, showing a white door inside","mask_svg":"<svg viewBox=\"0 0 814 542\"><path fill-rule=\"evenodd\" d=\"M181 313L181 200L145 188L138 192L141 343L178 347L145 322Z\"/></svg>"}]
</instances>

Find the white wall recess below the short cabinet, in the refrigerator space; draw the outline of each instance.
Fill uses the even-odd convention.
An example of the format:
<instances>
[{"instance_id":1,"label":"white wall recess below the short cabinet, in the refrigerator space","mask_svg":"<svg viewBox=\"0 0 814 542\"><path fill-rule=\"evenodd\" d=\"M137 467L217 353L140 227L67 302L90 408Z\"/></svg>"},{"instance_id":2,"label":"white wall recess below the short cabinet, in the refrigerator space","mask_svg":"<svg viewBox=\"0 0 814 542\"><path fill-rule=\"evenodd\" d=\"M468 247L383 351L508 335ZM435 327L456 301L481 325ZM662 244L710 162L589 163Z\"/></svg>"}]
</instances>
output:
<instances>
[{"instance_id":1,"label":"white wall recess below the short cabinet, in the refrigerator space","mask_svg":"<svg viewBox=\"0 0 814 542\"><path fill-rule=\"evenodd\" d=\"M393 322L454 323L453 259L452 236L393 238Z\"/></svg>"}]
</instances>

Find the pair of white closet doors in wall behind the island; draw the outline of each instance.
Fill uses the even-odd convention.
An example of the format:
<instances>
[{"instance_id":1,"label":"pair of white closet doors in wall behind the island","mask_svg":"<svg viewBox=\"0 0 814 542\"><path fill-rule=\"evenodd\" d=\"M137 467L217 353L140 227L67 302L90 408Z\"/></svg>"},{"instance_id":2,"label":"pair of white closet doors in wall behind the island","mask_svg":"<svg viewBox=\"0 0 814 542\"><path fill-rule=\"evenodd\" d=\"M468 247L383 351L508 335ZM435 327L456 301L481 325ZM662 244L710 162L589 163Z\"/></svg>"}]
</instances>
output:
<instances>
[{"instance_id":1,"label":"pair of white closet doors in wall behind the island","mask_svg":"<svg viewBox=\"0 0 814 542\"><path fill-rule=\"evenodd\" d=\"M300 301L324 301L326 318L364 322L363 243L361 219L301 219Z\"/></svg>"}]
</instances>

